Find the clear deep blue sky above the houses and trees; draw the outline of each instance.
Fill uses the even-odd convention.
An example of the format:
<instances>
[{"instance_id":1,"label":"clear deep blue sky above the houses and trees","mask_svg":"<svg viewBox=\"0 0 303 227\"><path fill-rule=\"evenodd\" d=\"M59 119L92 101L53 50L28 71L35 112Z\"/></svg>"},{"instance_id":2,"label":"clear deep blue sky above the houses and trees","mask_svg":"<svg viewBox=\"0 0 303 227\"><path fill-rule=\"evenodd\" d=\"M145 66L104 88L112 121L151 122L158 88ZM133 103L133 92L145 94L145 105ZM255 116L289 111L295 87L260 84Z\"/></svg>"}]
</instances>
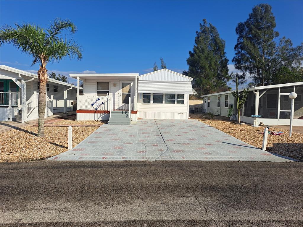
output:
<instances>
[{"instance_id":1,"label":"clear deep blue sky above the houses and trees","mask_svg":"<svg viewBox=\"0 0 303 227\"><path fill-rule=\"evenodd\" d=\"M83 46L81 61L48 64L57 73L139 73L152 71L163 57L168 69L188 69L186 58L203 18L215 25L226 41L231 59L235 27L254 5L268 3L280 37L296 46L303 41L303 1L1 1L1 25L29 22L47 27L54 18L70 19L78 27L75 40ZM31 57L5 44L1 64L36 73ZM71 82L73 82L71 80Z\"/></svg>"}]
</instances>

